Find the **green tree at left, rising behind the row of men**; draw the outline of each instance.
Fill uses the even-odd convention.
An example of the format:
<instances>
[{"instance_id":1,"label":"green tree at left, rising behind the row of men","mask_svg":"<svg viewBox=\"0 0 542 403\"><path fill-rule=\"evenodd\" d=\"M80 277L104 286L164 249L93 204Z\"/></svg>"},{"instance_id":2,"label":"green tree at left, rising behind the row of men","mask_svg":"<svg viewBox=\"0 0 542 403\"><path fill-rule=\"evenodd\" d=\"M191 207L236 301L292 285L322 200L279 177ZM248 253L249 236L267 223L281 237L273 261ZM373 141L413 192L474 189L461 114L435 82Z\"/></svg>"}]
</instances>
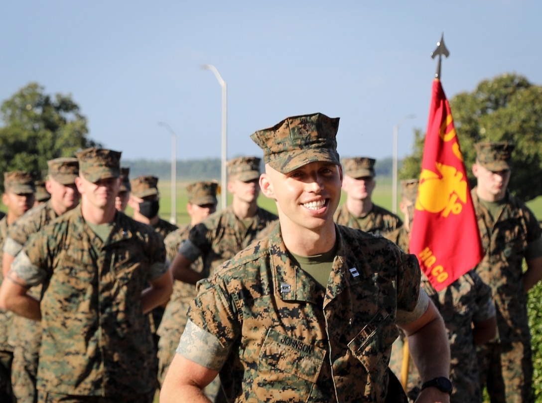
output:
<instances>
[{"instance_id":1,"label":"green tree at left, rising behind the row of men","mask_svg":"<svg viewBox=\"0 0 542 403\"><path fill-rule=\"evenodd\" d=\"M0 115L0 172L22 170L42 177L48 160L99 146L87 139L87 118L71 96L45 94L35 82L5 100Z\"/></svg>"}]
</instances>

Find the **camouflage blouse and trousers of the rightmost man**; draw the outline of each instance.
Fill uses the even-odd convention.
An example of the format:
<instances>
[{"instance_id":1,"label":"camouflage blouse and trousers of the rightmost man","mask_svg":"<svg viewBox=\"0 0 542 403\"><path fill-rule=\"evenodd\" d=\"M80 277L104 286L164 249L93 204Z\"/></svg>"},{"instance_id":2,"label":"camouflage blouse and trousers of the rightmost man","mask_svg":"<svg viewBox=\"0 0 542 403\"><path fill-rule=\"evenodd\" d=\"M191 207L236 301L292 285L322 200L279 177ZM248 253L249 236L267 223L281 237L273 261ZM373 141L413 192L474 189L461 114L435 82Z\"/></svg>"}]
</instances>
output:
<instances>
[{"instance_id":1,"label":"camouflage blouse and trousers of the rightmost man","mask_svg":"<svg viewBox=\"0 0 542 403\"><path fill-rule=\"evenodd\" d=\"M472 190L472 198L486 252L475 270L492 289L498 326L496 343L479 349L481 379L483 382L490 374L500 372L499 378L511 389L502 392L500 397L497 390L488 391L496 401L505 401L505 394L528 395L531 391L532 358L528 355L517 359L525 351L531 350L522 262L527 246L540 239L541 231L533 212L508 192L502 210L495 219L480 203L476 187ZM513 345L519 353L512 348ZM503 362L506 362L506 366ZM524 380L524 383L518 385L518 379Z\"/></svg>"}]
</instances>

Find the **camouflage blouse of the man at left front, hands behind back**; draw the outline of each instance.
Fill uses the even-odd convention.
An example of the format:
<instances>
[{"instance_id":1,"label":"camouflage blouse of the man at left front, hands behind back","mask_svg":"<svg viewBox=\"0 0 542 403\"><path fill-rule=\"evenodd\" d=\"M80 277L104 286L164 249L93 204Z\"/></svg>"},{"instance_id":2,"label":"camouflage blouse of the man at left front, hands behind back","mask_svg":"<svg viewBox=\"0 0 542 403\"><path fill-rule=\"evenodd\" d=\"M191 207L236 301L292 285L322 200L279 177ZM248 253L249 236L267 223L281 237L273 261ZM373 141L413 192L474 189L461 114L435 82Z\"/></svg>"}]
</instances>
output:
<instances>
[{"instance_id":1,"label":"camouflage blouse of the man at left front, hands behind back","mask_svg":"<svg viewBox=\"0 0 542 403\"><path fill-rule=\"evenodd\" d=\"M163 239L117 212L103 242L81 207L31 237L12 264L41 301L37 388L70 395L130 395L156 387L141 291L167 271Z\"/></svg>"}]
</instances>

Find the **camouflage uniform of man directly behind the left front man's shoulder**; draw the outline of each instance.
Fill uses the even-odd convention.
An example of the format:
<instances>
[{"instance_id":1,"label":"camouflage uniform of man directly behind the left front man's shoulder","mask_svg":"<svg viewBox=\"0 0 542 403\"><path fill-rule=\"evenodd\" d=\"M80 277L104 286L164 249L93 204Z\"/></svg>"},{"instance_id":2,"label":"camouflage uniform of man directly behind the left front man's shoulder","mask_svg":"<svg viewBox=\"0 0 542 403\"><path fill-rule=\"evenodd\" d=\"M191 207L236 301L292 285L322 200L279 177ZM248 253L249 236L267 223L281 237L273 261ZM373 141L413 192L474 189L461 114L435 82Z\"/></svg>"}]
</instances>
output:
<instances>
[{"instance_id":1,"label":"camouflage uniform of man directly behind the left front man's shoulder","mask_svg":"<svg viewBox=\"0 0 542 403\"><path fill-rule=\"evenodd\" d=\"M29 210L18 218L8 231L8 242L4 251L16 256L34 233L40 231L57 217L50 201ZM30 288L28 295L41 299L42 285ZM11 382L17 403L36 401L37 367L41 346L41 324L23 316L14 316L9 336L14 345Z\"/></svg>"}]
</instances>

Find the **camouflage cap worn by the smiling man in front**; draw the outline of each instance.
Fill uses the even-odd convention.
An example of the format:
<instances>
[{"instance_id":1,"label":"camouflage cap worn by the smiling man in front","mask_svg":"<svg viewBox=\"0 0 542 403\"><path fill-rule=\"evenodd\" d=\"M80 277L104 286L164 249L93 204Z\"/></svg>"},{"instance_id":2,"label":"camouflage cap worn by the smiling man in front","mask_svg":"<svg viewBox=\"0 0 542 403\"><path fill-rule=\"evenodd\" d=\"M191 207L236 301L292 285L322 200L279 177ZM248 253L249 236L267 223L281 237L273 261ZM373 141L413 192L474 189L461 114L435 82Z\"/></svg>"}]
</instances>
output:
<instances>
[{"instance_id":1,"label":"camouflage cap worn by the smiling man in front","mask_svg":"<svg viewBox=\"0 0 542 403\"><path fill-rule=\"evenodd\" d=\"M292 116L250 136L275 170L288 173L315 161L340 165L337 153L339 118L321 113Z\"/></svg>"}]
</instances>

